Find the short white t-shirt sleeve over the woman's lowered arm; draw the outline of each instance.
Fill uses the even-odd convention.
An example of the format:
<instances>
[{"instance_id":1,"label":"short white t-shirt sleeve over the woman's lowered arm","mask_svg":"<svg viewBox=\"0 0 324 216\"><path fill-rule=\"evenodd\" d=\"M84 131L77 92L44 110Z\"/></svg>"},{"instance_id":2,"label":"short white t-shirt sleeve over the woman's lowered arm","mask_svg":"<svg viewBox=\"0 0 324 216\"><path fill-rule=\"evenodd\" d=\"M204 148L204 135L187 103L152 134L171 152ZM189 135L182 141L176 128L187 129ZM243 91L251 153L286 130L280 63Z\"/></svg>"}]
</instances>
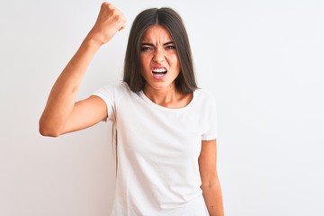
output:
<instances>
[{"instance_id":1,"label":"short white t-shirt sleeve over the woman's lowered arm","mask_svg":"<svg viewBox=\"0 0 324 216\"><path fill-rule=\"evenodd\" d=\"M217 107L216 101L212 94L208 94L205 104L205 116L208 130L202 134L202 140L217 139Z\"/></svg>"}]
</instances>

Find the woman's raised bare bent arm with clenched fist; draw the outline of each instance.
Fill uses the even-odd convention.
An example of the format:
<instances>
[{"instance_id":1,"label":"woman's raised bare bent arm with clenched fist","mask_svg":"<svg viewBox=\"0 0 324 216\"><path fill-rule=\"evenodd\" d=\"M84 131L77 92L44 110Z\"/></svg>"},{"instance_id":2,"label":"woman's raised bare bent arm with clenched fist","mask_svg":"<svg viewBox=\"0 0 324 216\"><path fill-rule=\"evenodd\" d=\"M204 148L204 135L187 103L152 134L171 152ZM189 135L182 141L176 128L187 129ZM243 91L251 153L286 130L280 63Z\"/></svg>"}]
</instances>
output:
<instances>
[{"instance_id":1,"label":"woman's raised bare bent arm with clenched fist","mask_svg":"<svg viewBox=\"0 0 324 216\"><path fill-rule=\"evenodd\" d=\"M40 134L57 137L90 127L107 117L107 108L102 99L90 96L76 102L76 94L94 54L125 27L125 22L123 14L112 4L102 4L94 27L51 89L40 117Z\"/></svg>"}]
</instances>

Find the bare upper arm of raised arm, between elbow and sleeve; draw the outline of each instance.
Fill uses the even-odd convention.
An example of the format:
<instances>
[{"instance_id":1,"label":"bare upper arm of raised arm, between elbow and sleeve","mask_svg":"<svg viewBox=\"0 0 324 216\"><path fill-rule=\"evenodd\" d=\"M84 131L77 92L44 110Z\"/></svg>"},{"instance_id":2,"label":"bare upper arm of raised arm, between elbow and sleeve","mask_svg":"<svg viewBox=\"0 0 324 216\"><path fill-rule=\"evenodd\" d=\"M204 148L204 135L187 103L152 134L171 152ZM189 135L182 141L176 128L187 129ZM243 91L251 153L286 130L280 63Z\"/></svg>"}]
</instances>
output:
<instances>
[{"instance_id":1,"label":"bare upper arm of raised arm, between elbow and sleeve","mask_svg":"<svg viewBox=\"0 0 324 216\"><path fill-rule=\"evenodd\" d=\"M67 118L62 134L93 126L106 119L107 113L106 103L98 96L91 95L85 100L78 101Z\"/></svg>"}]
</instances>

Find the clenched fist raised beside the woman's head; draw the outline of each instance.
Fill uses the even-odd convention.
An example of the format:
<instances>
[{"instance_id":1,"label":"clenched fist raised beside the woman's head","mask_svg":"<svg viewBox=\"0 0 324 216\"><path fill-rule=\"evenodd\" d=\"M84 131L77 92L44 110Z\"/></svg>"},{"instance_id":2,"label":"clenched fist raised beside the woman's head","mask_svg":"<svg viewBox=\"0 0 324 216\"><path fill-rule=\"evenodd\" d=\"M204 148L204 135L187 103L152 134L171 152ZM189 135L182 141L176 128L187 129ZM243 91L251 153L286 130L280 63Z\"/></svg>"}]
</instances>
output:
<instances>
[{"instance_id":1,"label":"clenched fist raised beside the woman's head","mask_svg":"<svg viewBox=\"0 0 324 216\"><path fill-rule=\"evenodd\" d=\"M100 45L112 40L117 31L125 28L126 18L121 11L112 4L104 2L94 27L88 34L88 38L95 40Z\"/></svg>"}]
</instances>

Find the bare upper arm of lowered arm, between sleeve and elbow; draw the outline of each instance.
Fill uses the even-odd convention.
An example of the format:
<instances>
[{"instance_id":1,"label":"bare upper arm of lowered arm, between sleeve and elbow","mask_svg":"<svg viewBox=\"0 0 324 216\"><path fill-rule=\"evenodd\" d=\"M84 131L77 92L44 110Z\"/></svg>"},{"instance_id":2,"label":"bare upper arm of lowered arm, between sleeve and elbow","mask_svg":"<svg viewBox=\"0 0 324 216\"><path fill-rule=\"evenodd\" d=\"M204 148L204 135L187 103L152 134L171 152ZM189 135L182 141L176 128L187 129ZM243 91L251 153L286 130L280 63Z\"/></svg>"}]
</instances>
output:
<instances>
[{"instance_id":1,"label":"bare upper arm of lowered arm, between sleeve and elbow","mask_svg":"<svg viewBox=\"0 0 324 216\"><path fill-rule=\"evenodd\" d=\"M202 140L202 150L198 158L202 186L210 186L210 184L218 180L216 160L216 139Z\"/></svg>"}]
</instances>

